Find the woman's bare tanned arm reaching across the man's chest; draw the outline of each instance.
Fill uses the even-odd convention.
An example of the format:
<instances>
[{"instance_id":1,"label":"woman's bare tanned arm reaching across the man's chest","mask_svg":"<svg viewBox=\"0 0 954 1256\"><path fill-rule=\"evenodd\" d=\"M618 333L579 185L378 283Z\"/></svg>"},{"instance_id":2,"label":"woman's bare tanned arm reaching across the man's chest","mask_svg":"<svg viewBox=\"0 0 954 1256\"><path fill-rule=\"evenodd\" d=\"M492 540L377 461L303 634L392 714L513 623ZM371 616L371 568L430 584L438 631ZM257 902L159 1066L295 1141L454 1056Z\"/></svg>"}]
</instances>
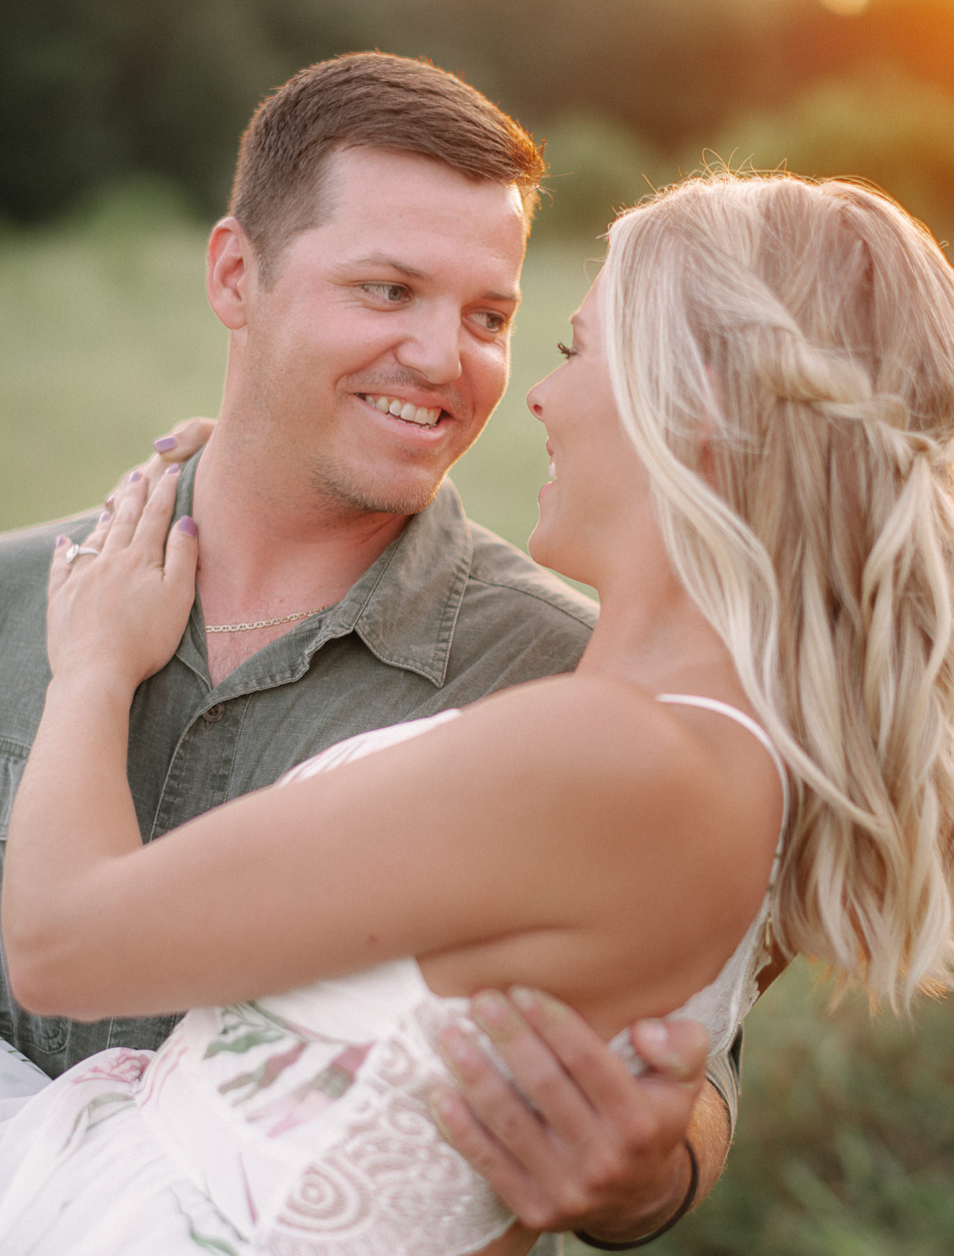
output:
<instances>
[{"instance_id":1,"label":"woman's bare tanned arm reaching across the man's chest","mask_svg":"<svg viewBox=\"0 0 954 1256\"><path fill-rule=\"evenodd\" d=\"M630 853L649 823L640 806L662 815L678 781L659 782L659 728L646 725L640 737L636 720L630 749L649 742L645 772L657 782L640 790L641 772L619 780L621 757L609 764L598 741L614 705L599 682L501 695L146 848L126 785L129 696L100 668L54 679L18 796L8 955L20 997L44 1011L168 1011L468 946L487 972L476 985L496 968L495 982L544 985L581 1010L613 1014L618 1029L710 980L758 904L754 878L734 912L731 893L710 901L716 862L688 815L673 835L684 795L669 809L665 853L648 843L639 860ZM77 749L80 726L88 741ZM677 916L685 923L673 937L659 921ZM620 918L621 931L610 923ZM641 991L619 1007L614 980L600 987L591 973L611 967L615 946L635 957L626 985Z\"/></svg>"}]
</instances>

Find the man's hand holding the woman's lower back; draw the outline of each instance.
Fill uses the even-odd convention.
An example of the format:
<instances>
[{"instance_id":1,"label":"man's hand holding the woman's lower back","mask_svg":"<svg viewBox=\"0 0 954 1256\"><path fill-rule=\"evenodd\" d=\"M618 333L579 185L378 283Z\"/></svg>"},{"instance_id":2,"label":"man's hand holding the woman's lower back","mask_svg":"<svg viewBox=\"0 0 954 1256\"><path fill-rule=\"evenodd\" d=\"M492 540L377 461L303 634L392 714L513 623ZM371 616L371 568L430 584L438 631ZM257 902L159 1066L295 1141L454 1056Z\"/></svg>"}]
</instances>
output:
<instances>
[{"instance_id":1,"label":"man's hand holding the woman's lower back","mask_svg":"<svg viewBox=\"0 0 954 1256\"><path fill-rule=\"evenodd\" d=\"M633 1078L576 1012L547 995L486 991L472 1012L530 1103L473 1039L448 1030L441 1050L461 1089L441 1088L432 1110L520 1221L624 1242L674 1216L690 1183L684 1139L705 1078L702 1026L635 1025L633 1042L649 1071ZM698 1198L728 1149L724 1105L708 1085L707 1105L707 1120L692 1129Z\"/></svg>"}]
</instances>

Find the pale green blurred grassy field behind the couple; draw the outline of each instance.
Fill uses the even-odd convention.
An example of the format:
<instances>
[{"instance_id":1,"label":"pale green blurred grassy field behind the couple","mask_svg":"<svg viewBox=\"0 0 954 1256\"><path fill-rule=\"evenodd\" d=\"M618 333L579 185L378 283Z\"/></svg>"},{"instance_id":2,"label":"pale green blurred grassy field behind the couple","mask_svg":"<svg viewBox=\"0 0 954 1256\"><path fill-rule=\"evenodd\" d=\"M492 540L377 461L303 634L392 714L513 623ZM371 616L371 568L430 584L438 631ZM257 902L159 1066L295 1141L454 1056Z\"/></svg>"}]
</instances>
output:
<instances>
[{"instance_id":1,"label":"pale green blurred grassy field behind the couple","mask_svg":"<svg viewBox=\"0 0 954 1256\"><path fill-rule=\"evenodd\" d=\"M0 235L0 528L102 500L154 436L215 413L226 343L205 303L203 241L161 187ZM523 394L557 362L598 255L595 242L531 251L510 393L454 472L473 517L517 544L547 462ZM861 1001L826 1015L811 986L798 963L751 1015L729 1169L659 1256L954 1250L950 1007L872 1024Z\"/></svg>"}]
</instances>

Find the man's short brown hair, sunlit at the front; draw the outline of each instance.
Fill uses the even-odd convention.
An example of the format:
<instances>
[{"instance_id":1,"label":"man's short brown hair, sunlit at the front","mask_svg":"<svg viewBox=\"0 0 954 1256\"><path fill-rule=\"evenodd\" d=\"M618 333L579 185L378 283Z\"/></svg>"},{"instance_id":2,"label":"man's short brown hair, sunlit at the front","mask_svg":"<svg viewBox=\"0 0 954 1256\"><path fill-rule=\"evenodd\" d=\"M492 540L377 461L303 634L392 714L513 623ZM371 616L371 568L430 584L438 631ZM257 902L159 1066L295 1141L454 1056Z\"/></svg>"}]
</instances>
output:
<instances>
[{"instance_id":1,"label":"man's short brown hair, sunlit at the front","mask_svg":"<svg viewBox=\"0 0 954 1256\"><path fill-rule=\"evenodd\" d=\"M242 136L230 214L255 246L262 283L289 241L320 221L329 154L370 147L513 183L530 230L546 165L517 122L429 62L349 53L295 74L259 106Z\"/></svg>"}]
</instances>

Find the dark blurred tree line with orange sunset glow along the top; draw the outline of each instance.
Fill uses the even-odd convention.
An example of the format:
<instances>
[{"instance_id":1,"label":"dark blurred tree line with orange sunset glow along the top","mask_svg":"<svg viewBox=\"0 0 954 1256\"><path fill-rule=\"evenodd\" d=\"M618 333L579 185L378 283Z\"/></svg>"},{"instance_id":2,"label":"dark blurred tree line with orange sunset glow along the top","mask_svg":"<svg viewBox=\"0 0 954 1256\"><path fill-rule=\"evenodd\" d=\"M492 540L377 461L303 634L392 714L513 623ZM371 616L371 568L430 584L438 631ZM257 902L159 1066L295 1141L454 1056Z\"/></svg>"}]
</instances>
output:
<instances>
[{"instance_id":1,"label":"dark blurred tree line with orange sunset glow along the top","mask_svg":"<svg viewBox=\"0 0 954 1256\"><path fill-rule=\"evenodd\" d=\"M20 222L56 215L131 170L172 178L202 214L221 212L236 141L256 103L299 67L359 48L426 55L463 73L550 139L557 192L569 188L557 162L565 141L591 202L584 210L587 193L574 190L567 216L587 227L598 206L605 215L641 188L639 175L608 178L614 163L634 161L641 172L645 161L670 178L687 153L692 168L703 147L758 129L756 117L777 122L772 142L758 137L766 151L781 144L792 168L816 165L813 142L796 127L796 102L831 106L847 124L844 102L815 90L846 79L870 107L854 116L869 139L839 148L816 122L808 138L841 158L839 173L875 178L885 168L890 177L894 166L879 162L871 139L884 126L890 144L900 143L899 84L930 85L941 114L954 93L951 0L871 0L856 18L818 0L0 4L0 215ZM872 73L879 65L894 78ZM935 138L926 143L916 139L911 180L920 173L930 183L941 152L949 166L940 129L929 127ZM587 133L600 149L592 161L581 146ZM946 196L946 182L935 192Z\"/></svg>"}]
</instances>

